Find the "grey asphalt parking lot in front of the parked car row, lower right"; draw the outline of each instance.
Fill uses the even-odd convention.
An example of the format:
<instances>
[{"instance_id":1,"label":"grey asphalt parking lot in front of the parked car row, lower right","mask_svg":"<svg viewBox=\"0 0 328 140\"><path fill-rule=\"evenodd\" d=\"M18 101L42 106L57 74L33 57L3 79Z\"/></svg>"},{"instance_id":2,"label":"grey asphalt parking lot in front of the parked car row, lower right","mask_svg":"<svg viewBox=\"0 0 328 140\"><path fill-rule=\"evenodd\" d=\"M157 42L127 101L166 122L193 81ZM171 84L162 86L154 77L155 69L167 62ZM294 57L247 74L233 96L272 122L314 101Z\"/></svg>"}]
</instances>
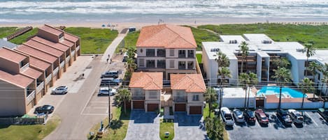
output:
<instances>
[{"instance_id":1,"label":"grey asphalt parking lot in front of the parked car row, lower right","mask_svg":"<svg viewBox=\"0 0 328 140\"><path fill-rule=\"evenodd\" d=\"M269 125L234 124L226 127L231 140L234 139L328 139L328 124L322 120L316 111L304 111L303 125L285 127L276 117L275 112L266 112L269 115Z\"/></svg>"}]
</instances>

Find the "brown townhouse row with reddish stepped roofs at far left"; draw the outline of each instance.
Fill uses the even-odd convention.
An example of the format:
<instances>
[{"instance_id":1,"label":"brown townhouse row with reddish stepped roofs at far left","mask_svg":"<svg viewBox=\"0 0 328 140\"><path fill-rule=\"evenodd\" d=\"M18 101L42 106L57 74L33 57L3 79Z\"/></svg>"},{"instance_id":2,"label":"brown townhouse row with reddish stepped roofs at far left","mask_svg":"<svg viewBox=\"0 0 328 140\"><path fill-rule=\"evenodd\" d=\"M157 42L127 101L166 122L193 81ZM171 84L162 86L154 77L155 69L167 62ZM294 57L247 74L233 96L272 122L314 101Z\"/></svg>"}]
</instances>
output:
<instances>
[{"instance_id":1,"label":"brown townhouse row with reddish stepped roofs at far left","mask_svg":"<svg viewBox=\"0 0 328 140\"><path fill-rule=\"evenodd\" d=\"M0 49L0 116L26 114L80 56L80 38L52 26Z\"/></svg>"}]
</instances>

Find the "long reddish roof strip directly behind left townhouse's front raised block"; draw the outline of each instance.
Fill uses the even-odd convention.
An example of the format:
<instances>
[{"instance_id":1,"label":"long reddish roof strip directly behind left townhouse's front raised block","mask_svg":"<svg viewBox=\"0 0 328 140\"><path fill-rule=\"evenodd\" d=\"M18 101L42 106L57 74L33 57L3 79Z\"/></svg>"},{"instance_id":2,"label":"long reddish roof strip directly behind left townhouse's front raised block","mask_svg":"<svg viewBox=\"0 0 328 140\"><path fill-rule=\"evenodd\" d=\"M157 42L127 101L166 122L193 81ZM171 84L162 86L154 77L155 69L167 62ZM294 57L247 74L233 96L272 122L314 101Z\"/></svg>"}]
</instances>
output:
<instances>
[{"instance_id":1,"label":"long reddish roof strip directly behind left townhouse's front raised block","mask_svg":"<svg viewBox=\"0 0 328 140\"><path fill-rule=\"evenodd\" d=\"M48 63L54 63L55 61L57 61L57 58L55 56L51 56L50 54L41 52L38 49L34 49L33 47L28 47L27 45L20 45L17 47L17 50L20 52L24 52L25 54L28 54L29 56L34 56L38 59L46 61Z\"/></svg>"}]
</instances>

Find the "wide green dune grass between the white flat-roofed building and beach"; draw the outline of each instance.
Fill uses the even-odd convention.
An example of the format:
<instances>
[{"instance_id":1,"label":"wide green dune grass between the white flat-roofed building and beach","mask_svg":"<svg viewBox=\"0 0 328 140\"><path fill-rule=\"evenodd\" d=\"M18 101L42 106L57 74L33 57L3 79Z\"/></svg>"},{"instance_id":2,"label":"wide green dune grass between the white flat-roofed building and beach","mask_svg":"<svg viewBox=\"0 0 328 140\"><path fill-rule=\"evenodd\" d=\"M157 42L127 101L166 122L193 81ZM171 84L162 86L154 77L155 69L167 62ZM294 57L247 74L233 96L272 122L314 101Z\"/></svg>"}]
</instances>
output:
<instances>
[{"instance_id":1,"label":"wide green dune grass between the white flat-roofed building and beach","mask_svg":"<svg viewBox=\"0 0 328 140\"><path fill-rule=\"evenodd\" d=\"M328 48L327 25L295 24L222 24L202 25L199 29L209 29L222 35L241 35L243 33L265 33L275 41L297 41L312 43L317 48Z\"/></svg>"}]
</instances>

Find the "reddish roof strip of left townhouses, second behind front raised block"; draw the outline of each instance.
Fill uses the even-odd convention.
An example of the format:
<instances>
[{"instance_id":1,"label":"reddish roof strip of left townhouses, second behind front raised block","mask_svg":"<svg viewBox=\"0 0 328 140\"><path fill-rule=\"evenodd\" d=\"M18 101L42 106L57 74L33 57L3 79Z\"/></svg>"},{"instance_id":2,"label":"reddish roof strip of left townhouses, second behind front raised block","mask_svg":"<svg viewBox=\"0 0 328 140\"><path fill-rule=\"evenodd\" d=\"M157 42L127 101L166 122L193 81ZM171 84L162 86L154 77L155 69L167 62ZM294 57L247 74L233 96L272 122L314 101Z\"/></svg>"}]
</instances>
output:
<instances>
[{"instance_id":1,"label":"reddish roof strip of left townhouses, second behind front raised block","mask_svg":"<svg viewBox=\"0 0 328 140\"><path fill-rule=\"evenodd\" d=\"M34 40L28 40L27 42L24 42L24 45L28 45L29 47L33 47L34 49L41 50L42 52L45 52L47 54L54 55L57 57L60 57L64 54L64 52L59 51L58 49L54 49L52 47L44 45L40 42L36 42Z\"/></svg>"}]
</instances>

